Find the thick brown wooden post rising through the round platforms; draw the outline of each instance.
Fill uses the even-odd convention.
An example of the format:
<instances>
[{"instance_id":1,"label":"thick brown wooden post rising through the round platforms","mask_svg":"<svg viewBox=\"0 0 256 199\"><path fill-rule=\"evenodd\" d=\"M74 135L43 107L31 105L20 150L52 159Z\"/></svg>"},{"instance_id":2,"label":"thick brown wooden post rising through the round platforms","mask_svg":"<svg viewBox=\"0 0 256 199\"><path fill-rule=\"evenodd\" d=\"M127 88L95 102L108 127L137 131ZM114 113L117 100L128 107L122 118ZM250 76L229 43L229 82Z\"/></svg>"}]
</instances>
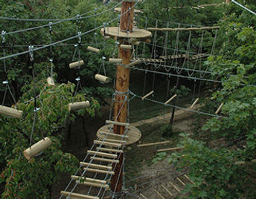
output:
<instances>
[{"instance_id":1,"label":"thick brown wooden post rising through the round platforms","mask_svg":"<svg viewBox=\"0 0 256 199\"><path fill-rule=\"evenodd\" d=\"M132 32L132 25L133 25L133 7L135 2L127 2L124 1L121 6L121 19L120 19L120 30L124 32ZM123 65L127 65L131 62L131 51L124 50L121 48L121 45L125 45L125 41L127 39L120 40L119 45L119 53L118 58L122 59ZM127 122L127 100L128 100L128 92L129 92L129 68L124 68L124 66L117 65L117 72L116 72L116 82L115 82L115 112L114 112L114 119L115 121L126 123ZM125 126L121 125L114 125L114 133L115 134L124 134ZM119 163L113 165L112 167L115 168L115 174L112 175L111 178L111 191L120 193L122 191L122 163L124 160L124 155L118 154ZM118 198L115 197L114 198Z\"/></svg>"}]
</instances>

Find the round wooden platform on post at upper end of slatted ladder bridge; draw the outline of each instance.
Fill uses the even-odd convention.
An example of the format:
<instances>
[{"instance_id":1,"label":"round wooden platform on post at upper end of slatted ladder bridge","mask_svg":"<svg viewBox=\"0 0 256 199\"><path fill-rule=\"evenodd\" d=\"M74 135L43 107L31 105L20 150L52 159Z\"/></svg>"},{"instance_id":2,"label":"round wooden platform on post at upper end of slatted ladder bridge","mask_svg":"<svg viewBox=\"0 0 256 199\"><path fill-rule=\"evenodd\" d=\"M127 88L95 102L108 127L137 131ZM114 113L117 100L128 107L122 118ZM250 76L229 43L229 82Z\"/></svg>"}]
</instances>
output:
<instances>
[{"instance_id":1,"label":"round wooden platform on post at upper end of slatted ladder bridge","mask_svg":"<svg viewBox=\"0 0 256 199\"><path fill-rule=\"evenodd\" d=\"M103 138L103 137L106 137L106 134L100 134L100 131L101 132L111 132L113 133L113 130L112 130L112 126L113 125L103 125L102 127L100 127L98 130L97 130L97 137L100 137L100 138ZM127 143L126 145L130 145L132 143L136 143L138 142L138 140L141 139L141 131L138 130L138 128L136 128L135 126L132 126L132 125L129 125L129 130L127 132L127 136L128 136L128 139L127 139ZM115 137L115 135L111 135L109 134L108 139L115 139L115 140L118 140L120 138L118 137ZM124 138L123 138L124 140Z\"/></svg>"}]
</instances>

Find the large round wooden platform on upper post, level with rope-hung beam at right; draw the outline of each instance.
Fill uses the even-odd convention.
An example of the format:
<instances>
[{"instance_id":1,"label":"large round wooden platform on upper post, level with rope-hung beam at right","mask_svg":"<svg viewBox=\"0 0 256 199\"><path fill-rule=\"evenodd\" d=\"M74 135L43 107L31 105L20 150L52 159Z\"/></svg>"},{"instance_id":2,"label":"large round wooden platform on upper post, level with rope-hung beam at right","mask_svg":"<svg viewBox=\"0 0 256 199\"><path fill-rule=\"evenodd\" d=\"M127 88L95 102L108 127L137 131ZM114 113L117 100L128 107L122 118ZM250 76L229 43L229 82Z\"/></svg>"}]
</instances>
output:
<instances>
[{"instance_id":1,"label":"large round wooden platform on upper post, level with rope-hung beam at right","mask_svg":"<svg viewBox=\"0 0 256 199\"><path fill-rule=\"evenodd\" d=\"M103 28L100 30L103 35ZM135 39L145 39L152 36L152 33L143 29L135 29L130 33L122 32L119 27L106 27L105 31L108 36L118 36L121 38L135 38Z\"/></svg>"}]
</instances>

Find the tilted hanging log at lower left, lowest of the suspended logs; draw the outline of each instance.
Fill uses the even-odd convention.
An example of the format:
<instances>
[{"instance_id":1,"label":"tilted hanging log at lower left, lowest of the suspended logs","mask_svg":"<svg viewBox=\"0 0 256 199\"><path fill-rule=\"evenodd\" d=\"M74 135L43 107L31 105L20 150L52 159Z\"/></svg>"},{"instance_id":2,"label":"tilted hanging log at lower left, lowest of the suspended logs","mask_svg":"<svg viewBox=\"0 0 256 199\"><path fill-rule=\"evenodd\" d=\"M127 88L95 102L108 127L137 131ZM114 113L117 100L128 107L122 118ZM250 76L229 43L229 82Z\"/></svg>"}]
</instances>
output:
<instances>
[{"instance_id":1,"label":"tilted hanging log at lower left, lowest of the suspended logs","mask_svg":"<svg viewBox=\"0 0 256 199\"><path fill-rule=\"evenodd\" d=\"M52 142L50 138L45 137L45 139L40 140L39 142L32 145L30 148L23 151L23 154L27 160L30 160L31 157L36 156L36 154L39 154L40 152L51 146L51 143Z\"/></svg>"}]
</instances>

